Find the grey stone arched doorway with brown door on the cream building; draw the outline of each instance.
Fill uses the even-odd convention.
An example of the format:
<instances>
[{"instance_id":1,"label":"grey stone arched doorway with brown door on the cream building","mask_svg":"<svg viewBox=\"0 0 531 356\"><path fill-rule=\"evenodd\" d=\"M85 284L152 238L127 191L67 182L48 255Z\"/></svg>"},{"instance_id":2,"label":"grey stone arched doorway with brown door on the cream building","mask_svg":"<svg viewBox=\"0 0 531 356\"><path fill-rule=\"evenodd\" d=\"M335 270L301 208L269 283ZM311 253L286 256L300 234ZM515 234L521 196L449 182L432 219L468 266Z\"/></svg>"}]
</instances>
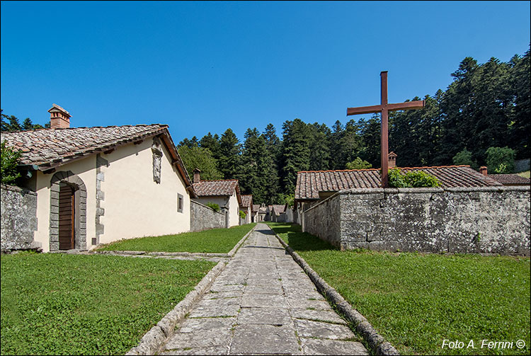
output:
<instances>
[{"instance_id":1,"label":"grey stone arched doorway with brown door on the cream building","mask_svg":"<svg viewBox=\"0 0 531 356\"><path fill-rule=\"evenodd\" d=\"M86 249L86 187L71 171L50 180L50 251Z\"/></svg>"}]
</instances>

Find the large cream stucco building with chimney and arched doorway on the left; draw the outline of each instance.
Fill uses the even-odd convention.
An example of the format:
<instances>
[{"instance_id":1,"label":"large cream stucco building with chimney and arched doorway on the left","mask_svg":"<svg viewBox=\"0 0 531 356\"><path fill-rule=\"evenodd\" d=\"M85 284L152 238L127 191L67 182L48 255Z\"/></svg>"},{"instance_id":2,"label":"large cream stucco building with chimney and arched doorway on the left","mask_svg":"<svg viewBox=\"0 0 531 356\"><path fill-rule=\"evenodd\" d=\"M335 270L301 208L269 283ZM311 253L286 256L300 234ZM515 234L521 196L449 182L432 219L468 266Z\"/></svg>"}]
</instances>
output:
<instances>
[{"instance_id":1,"label":"large cream stucco building with chimney and arched doorway on the left","mask_svg":"<svg viewBox=\"0 0 531 356\"><path fill-rule=\"evenodd\" d=\"M42 251L190 231L196 195L167 125L74 128L67 110L49 112L50 129L1 134L37 193Z\"/></svg>"}]
</instances>

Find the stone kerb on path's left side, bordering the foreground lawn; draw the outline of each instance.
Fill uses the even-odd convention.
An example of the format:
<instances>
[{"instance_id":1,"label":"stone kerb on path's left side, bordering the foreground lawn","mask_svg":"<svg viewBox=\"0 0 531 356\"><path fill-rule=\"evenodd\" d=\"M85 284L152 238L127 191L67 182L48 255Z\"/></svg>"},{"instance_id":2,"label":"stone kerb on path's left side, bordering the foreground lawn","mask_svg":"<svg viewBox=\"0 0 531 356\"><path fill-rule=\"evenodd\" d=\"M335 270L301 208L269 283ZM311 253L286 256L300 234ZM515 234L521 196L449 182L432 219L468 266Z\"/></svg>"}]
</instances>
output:
<instances>
[{"instance_id":1,"label":"stone kerb on path's left side, bordering the foreground lawn","mask_svg":"<svg viewBox=\"0 0 531 356\"><path fill-rule=\"evenodd\" d=\"M216 277L225 269L227 264L220 261L202 280L179 302L164 318L142 336L140 343L129 350L125 355L154 355L172 335L177 323L183 320L198 302L202 294L212 285Z\"/></svg>"}]
</instances>

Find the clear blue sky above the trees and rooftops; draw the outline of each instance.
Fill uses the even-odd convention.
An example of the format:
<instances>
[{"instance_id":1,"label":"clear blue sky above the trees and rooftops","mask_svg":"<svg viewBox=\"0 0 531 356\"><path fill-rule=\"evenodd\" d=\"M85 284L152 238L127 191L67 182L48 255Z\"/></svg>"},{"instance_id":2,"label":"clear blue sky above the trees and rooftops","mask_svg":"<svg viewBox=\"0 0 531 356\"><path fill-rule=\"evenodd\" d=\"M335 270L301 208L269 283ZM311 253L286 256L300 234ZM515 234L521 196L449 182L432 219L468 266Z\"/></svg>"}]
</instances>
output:
<instances>
[{"instance_id":1,"label":"clear blue sky above the trees and rooftops","mask_svg":"<svg viewBox=\"0 0 531 356\"><path fill-rule=\"evenodd\" d=\"M382 70L389 102L433 95L531 31L530 1L1 1L0 25L5 114L44 124L57 103L72 127L164 123L176 143L344 124Z\"/></svg>"}]
</instances>

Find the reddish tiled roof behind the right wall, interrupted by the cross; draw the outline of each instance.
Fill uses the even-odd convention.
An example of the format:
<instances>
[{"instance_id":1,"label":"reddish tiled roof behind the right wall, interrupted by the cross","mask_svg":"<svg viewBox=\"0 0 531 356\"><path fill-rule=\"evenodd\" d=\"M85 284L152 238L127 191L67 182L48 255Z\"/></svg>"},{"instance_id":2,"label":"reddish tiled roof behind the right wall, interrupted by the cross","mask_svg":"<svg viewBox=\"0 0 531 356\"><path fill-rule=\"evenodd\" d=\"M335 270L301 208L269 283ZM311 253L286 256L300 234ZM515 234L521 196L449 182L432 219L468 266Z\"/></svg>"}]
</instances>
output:
<instances>
[{"instance_id":1,"label":"reddish tiled roof behind the right wall, interrupted by the cross","mask_svg":"<svg viewBox=\"0 0 531 356\"><path fill-rule=\"evenodd\" d=\"M399 167L401 171L424 171L438 178L442 188L488 187L501 185L469 166ZM319 192L337 192L350 188L380 188L379 169L297 172L295 199L316 200Z\"/></svg>"}]
</instances>

